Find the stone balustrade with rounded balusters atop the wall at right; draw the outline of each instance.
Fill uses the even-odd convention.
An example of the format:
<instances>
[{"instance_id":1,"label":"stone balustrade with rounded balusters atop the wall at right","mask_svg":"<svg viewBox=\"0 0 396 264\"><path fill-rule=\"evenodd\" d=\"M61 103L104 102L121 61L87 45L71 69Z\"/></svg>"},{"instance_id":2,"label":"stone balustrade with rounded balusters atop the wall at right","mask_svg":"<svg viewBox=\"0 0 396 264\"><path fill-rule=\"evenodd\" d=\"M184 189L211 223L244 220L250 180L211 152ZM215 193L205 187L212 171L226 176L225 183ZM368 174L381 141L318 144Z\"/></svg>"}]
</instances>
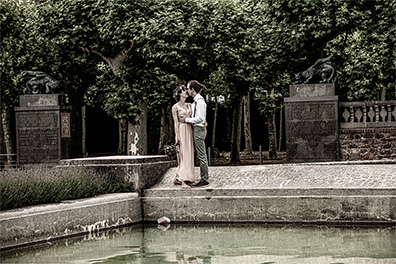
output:
<instances>
[{"instance_id":1,"label":"stone balustrade with rounded balusters atop the wall at right","mask_svg":"<svg viewBox=\"0 0 396 264\"><path fill-rule=\"evenodd\" d=\"M339 103L340 129L396 127L396 101Z\"/></svg>"}]
</instances>

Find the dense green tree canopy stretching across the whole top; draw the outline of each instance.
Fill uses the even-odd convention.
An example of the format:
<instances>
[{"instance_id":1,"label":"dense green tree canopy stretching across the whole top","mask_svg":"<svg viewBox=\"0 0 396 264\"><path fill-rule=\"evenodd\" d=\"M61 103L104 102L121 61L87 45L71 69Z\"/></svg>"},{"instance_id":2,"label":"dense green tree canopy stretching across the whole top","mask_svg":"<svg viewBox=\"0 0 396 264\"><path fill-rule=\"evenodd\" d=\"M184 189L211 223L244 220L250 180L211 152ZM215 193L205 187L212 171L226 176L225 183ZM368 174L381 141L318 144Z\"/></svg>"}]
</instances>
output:
<instances>
[{"instance_id":1,"label":"dense green tree canopy stretching across the whole top","mask_svg":"<svg viewBox=\"0 0 396 264\"><path fill-rule=\"evenodd\" d=\"M1 100L16 104L20 73L46 71L79 106L134 120L146 101L169 106L177 80L206 93L256 88L288 95L294 73L334 54L343 100L395 99L396 1L6 0ZM282 100L257 96L264 114ZM235 107L235 105L234 105Z\"/></svg>"}]
</instances>

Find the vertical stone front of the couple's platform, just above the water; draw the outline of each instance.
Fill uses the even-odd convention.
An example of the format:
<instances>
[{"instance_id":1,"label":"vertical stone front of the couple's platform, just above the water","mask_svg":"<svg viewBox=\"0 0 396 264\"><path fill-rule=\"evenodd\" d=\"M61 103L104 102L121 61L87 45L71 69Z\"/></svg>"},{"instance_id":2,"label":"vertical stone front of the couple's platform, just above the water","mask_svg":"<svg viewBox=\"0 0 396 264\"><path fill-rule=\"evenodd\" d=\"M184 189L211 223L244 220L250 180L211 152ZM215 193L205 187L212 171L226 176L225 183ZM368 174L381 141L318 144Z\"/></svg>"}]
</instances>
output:
<instances>
[{"instance_id":1,"label":"vertical stone front of the couple's platform, just above the water","mask_svg":"<svg viewBox=\"0 0 396 264\"><path fill-rule=\"evenodd\" d=\"M145 221L396 225L396 196L145 197Z\"/></svg>"}]
</instances>

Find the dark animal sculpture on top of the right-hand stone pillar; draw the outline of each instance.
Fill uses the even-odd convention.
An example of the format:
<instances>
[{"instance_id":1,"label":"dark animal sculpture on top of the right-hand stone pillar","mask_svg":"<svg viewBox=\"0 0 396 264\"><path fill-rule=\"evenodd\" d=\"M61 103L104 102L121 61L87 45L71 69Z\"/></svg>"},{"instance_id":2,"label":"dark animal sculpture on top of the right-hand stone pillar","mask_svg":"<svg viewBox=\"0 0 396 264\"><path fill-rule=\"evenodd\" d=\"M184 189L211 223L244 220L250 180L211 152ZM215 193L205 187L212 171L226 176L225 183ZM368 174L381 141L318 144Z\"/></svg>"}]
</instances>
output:
<instances>
[{"instance_id":1,"label":"dark animal sculpture on top of the right-hand stone pillar","mask_svg":"<svg viewBox=\"0 0 396 264\"><path fill-rule=\"evenodd\" d=\"M335 70L331 64L333 54L326 58L318 59L314 65L305 71L295 74L295 83L310 83L319 81L320 83L329 83L332 81Z\"/></svg>"}]
</instances>

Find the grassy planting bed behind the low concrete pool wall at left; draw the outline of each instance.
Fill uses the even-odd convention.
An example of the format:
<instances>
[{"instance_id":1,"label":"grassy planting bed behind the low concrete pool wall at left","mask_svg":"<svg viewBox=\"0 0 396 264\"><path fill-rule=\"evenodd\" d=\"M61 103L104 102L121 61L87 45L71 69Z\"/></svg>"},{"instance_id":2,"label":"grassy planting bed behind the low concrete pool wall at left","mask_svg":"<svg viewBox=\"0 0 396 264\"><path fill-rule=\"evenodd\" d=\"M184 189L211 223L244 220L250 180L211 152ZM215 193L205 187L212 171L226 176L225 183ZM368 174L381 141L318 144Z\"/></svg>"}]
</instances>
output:
<instances>
[{"instance_id":1,"label":"grassy planting bed behind the low concrete pool wall at left","mask_svg":"<svg viewBox=\"0 0 396 264\"><path fill-rule=\"evenodd\" d=\"M128 191L123 179L84 168L0 171L0 210Z\"/></svg>"}]
</instances>

